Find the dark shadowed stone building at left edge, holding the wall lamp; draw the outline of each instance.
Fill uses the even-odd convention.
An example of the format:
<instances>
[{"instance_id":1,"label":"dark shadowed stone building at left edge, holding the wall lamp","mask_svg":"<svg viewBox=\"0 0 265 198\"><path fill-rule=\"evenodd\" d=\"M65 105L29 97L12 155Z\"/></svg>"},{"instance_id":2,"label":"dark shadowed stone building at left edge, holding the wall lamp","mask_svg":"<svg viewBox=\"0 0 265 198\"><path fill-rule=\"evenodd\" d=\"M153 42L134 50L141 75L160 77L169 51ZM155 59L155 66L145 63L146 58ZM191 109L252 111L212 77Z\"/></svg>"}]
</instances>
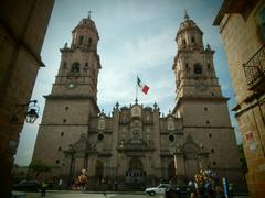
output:
<instances>
[{"instance_id":1,"label":"dark shadowed stone building at left edge, holding the wall lamp","mask_svg":"<svg viewBox=\"0 0 265 198\"><path fill-rule=\"evenodd\" d=\"M4 0L0 7L0 197L9 197L13 155L23 128L24 113L17 105L31 98L40 66L40 53L53 0ZM26 110L26 108L25 108Z\"/></svg>"}]
</instances>

